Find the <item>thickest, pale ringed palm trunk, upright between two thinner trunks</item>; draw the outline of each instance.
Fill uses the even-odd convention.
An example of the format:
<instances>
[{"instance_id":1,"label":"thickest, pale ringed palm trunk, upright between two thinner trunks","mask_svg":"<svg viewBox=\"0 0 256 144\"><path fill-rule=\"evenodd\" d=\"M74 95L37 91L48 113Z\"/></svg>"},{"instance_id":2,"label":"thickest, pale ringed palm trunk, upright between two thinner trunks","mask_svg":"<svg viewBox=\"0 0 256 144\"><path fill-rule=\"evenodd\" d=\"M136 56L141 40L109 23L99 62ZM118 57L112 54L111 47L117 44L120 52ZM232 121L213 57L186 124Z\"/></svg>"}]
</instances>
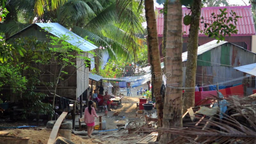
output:
<instances>
[{"instance_id":1,"label":"thickest, pale ringed palm trunk, upright between two thinner trunks","mask_svg":"<svg viewBox=\"0 0 256 144\"><path fill-rule=\"evenodd\" d=\"M169 0L166 33L166 89L163 127L182 126L182 8L180 0ZM159 143L165 144L177 135L163 133Z\"/></svg>"}]
</instances>

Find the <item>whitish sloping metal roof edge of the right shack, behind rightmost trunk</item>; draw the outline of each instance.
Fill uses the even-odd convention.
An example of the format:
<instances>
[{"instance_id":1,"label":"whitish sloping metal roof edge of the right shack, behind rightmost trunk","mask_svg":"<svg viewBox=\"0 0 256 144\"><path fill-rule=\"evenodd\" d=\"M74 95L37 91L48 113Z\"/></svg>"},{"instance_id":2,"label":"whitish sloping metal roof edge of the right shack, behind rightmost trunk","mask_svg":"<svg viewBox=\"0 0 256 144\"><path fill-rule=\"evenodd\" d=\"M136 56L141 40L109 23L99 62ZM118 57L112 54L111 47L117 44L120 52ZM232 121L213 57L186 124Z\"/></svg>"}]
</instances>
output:
<instances>
[{"instance_id":1,"label":"whitish sloping metal roof edge of the right shack, behind rightmost trunk","mask_svg":"<svg viewBox=\"0 0 256 144\"><path fill-rule=\"evenodd\" d=\"M217 44L217 41L218 41L218 40L213 40L213 41L211 41L211 42L209 42L209 43L206 43L206 44L203 44L203 45L201 45L201 46L198 46L198 48L197 48L197 55L202 54L202 53L204 53L204 52L207 52L207 51L211 50L212 48L215 48L215 47L220 46L220 45L222 45L222 44L228 43L228 42L226 42L226 41L220 41L220 42ZM182 53L182 62L183 62L183 61L186 61L187 58L188 58L188 52L183 52L183 53Z\"/></svg>"}]
</instances>

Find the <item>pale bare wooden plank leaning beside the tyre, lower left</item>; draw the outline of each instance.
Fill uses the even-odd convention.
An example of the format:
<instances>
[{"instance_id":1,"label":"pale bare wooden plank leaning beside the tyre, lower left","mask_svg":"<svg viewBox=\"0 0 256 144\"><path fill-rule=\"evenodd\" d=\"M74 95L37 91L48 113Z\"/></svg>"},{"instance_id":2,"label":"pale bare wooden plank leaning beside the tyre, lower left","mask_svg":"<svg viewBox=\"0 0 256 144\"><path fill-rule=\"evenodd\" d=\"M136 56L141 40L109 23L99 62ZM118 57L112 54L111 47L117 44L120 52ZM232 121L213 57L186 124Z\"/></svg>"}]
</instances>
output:
<instances>
[{"instance_id":1,"label":"pale bare wooden plank leaning beside the tyre, lower left","mask_svg":"<svg viewBox=\"0 0 256 144\"><path fill-rule=\"evenodd\" d=\"M52 128L52 132L50 134L50 137L48 139L47 144L53 144L56 137L57 137L57 133L59 131L60 128L60 124L62 123L63 119L67 116L67 112L62 112L62 114L59 116L59 118L57 119L56 123L54 124L53 128Z\"/></svg>"}]
</instances>

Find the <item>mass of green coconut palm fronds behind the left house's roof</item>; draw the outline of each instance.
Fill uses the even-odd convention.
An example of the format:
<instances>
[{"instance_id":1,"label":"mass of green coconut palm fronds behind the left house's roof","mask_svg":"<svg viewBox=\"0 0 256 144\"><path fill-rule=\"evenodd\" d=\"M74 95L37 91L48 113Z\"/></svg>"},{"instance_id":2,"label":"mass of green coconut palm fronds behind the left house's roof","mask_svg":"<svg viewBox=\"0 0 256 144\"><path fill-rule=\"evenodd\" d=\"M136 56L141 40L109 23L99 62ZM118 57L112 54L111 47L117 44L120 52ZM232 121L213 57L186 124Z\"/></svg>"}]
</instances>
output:
<instances>
[{"instance_id":1,"label":"mass of green coconut palm fronds behind the left house's roof","mask_svg":"<svg viewBox=\"0 0 256 144\"><path fill-rule=\"evenodd\" d=\"M87 39L92 40L97 46L108 46L107 50L112 57L119 55L128 57L129 54L133 54L136 58L135 53L142 46L141 39L135 36L143 32L141 25L143 18L140 15L142 10L135 0L69 0L55 10L45 9L41 17L38 13L33 13L36 2L11 1L13 3L10 7L16 12L14 16L32 17L34 22L58 22L67 28L72 28L73 32L82 37L87 36ZM19 11L16 11L17 8ZM7 26L2 25L0 28L2 32L9 30L9 36L20 30L16 24L19 20L12 20L12 17L10 15L10 21L6 21ZM27 23L33 20L30 19ZM11 21L13 21L12 30L9 29Z\"/></svg>"}]
</instances>

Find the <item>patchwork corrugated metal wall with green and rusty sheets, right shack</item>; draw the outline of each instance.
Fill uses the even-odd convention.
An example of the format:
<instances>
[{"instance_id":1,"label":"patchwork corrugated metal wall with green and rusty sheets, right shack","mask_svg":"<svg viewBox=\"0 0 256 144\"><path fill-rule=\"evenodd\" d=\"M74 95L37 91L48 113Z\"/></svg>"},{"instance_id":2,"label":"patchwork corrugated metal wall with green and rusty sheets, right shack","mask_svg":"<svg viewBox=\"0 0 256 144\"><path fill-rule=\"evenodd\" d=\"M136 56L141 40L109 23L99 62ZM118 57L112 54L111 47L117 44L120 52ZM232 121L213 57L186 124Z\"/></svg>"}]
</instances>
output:
<instances>
[{"instance_id":1,"label":"patchwork corrugated metal wall with green and rusty sheets, right shack","mask_svg":"<svg viewBox=\"0 0 256 144\"><path fill-rule=\"evenodd\" d=\"M201 60L201 61L200 61ZM210 61L210 65L205 62ZM223 44L198 55L196 68L196 84L233 85L242 83L243 73L234 67L256 62L256 55L233 44ZM186 63L184 62L185 66ZM183 68L183 80L185 82L185 70ZM252 94L248 88L249 94Z\"/></svg>"}]
</instances>

